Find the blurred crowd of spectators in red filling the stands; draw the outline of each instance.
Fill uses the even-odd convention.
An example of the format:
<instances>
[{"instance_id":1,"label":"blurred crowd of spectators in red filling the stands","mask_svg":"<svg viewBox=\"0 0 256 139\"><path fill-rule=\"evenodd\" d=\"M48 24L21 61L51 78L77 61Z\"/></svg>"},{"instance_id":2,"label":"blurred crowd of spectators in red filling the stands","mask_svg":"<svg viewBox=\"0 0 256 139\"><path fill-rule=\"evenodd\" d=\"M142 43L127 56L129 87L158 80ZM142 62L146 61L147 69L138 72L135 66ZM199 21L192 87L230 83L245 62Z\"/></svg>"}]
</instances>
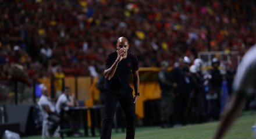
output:
<instances>
[{"instance_id":1,"label":"blurred crowd of spectators in red filling the stands","mask_svg":"<svg viewBox=\"0 0 256 139\"><path fill-rule=\"evenodd\" d=\"M0 0L0 76L97 76L117 38L140 67L255 44L255 1Z\"/></svg>"}]
</instances>

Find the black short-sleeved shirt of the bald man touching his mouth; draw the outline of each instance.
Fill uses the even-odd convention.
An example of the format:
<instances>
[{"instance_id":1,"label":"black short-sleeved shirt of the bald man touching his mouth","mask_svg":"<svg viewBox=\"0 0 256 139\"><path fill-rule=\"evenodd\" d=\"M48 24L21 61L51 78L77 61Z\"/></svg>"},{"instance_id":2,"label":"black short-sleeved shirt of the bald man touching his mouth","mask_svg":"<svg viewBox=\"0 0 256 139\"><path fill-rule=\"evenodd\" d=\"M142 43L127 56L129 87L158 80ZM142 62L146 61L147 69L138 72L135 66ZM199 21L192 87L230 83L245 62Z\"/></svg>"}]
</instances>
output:
<instances>
[{"instance_id":1,"label":"black short-sleeved shirt of the bald man touching his mouth","mask_svg":"<svg viewBox=\"0 0 256 139\"><path fill-rule=\"evenodd\" d=\"M117 57L118 53L116 51L106 56L105 70L113 65ZM132 92L133 90L129 85L129 76L131 71L136 72L137 70L138 58L136 55L128 52L127 57L118 63L114 76L110 80L106 80L105 89L115 94L119 94L123 91Z\"/></svg>"}]
</instances>

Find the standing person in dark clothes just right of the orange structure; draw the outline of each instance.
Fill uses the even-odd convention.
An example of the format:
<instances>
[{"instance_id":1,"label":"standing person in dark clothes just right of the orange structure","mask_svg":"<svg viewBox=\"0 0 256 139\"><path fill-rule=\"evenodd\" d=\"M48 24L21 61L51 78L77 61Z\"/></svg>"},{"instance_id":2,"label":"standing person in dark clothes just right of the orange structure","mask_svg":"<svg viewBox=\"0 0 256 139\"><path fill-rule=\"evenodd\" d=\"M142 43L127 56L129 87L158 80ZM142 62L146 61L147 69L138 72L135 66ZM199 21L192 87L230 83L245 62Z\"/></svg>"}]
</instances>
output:
<instances>
[{"instance_id":1,"label":"standing person in dark clothes just right of the orange structure","mask_svg":"<svg viewBox=\"0 0 256 139\"><path fill-rule=\"evenodd\" d=\"M161 62L161 70L158 73L158 80L161 88L161 127L168 128L170 124L170 116L172 115L172 82L170 80L170 73L168 72L168 62Z\"/></svg>"}]
</instances>

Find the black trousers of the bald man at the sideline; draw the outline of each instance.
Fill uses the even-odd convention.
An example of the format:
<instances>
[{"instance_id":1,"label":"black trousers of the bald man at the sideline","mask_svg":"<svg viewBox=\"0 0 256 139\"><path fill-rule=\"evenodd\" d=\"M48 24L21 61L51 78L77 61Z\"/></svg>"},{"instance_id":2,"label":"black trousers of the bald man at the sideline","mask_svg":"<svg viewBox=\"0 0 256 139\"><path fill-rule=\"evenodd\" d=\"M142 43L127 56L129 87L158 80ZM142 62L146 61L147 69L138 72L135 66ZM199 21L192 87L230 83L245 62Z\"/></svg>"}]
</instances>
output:
<instances>
[{"instance_id":1,"label":"black trousers of the bald man at the sideline","mask_svg":"<svg viewBox=\"0 0 256 139\"><path fill-rule=\"evenodd\" d=\"M113 126L113 118L116 112L116 104L120 103L125 112L127 126L126 139L133 139L135 135L135 105L133 104L132 92L120 92L114 94L111 91L104 92L104 120L101 129L101 139L110 139Z\"/></svg>"}]
</instances>

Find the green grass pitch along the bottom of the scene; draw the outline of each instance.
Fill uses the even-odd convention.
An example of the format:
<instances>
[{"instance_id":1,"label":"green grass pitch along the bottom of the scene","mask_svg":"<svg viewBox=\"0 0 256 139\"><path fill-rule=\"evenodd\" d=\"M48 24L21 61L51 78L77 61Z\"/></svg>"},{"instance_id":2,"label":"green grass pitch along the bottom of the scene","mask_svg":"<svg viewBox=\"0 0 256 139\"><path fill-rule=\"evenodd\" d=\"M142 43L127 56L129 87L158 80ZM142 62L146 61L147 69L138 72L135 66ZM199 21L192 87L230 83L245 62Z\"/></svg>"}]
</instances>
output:
<instances>
[{"instance_id":1,"label":"green grass pitch along the bottom of the scene","mask_svg":"<svg viewBox=\"0 0 256 139\"><path fill-rule=\"evenodd\" d=\"M251 126L255 123L256 112L243 112L228 131L225 139L249 139L253 138ZM214 134L218 122L208 122L202 124L193 124L183 127L175 127L170 129L161 129L160 127L137 127L136 139L210 139ZM41 136L23 137L26 139L41 139ZM68 137L68 138L99 138L97 137ZM125 138L125 133L115 133L112 131L113 139Z\"/></svg>"}]
</instances>

